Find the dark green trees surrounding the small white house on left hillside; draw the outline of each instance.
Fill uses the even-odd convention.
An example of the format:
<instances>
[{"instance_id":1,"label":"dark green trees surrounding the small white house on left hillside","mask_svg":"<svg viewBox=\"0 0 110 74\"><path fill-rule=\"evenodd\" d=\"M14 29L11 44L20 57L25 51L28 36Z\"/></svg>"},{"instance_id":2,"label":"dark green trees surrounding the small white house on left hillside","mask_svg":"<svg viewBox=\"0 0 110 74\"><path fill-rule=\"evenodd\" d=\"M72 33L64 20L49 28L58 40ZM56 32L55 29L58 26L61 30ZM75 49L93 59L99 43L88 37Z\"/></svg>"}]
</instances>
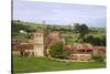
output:
<instances>
[{"instance_id":1,"label":"dark green trees surrounding the small white house on left hillside","mask_svg":"<svg viewBox=\"0 0 110 74\"><path fill-rule=\"evenodd\" d=\"M11 27L12 27L12 35L23 35L29 39L33 35L33 32L35 32L35 29L32 28L31 25L25 25L24 22L20 21L20 20L12 20L11 21ZM20 31L23 30L25 31L28 34L20 34Z\"/></svg>"}]
</instances>

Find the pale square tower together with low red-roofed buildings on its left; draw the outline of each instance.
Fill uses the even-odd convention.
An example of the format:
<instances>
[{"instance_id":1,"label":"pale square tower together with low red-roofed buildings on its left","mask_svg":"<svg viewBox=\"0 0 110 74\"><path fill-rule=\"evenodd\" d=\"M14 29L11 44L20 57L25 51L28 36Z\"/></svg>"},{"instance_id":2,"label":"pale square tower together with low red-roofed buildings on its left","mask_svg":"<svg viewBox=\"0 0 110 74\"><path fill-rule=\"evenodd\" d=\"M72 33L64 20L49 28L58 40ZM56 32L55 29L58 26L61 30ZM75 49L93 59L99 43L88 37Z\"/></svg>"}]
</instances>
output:
<instances>
[{"instance_id":1,"label":"pale square tower together with low red-roofed buildings on its left","mask_svg":"<svg viewBox=\"0 0 110 74\"><path fill-rule=\"evenodd\" d=\"M36 31L32 39L19 42L18 39L12 40L13 54L32 53L34 56L44 56L44 32ZM31 54L30 54L31 55Z\"/></svg>"}]
</instances>

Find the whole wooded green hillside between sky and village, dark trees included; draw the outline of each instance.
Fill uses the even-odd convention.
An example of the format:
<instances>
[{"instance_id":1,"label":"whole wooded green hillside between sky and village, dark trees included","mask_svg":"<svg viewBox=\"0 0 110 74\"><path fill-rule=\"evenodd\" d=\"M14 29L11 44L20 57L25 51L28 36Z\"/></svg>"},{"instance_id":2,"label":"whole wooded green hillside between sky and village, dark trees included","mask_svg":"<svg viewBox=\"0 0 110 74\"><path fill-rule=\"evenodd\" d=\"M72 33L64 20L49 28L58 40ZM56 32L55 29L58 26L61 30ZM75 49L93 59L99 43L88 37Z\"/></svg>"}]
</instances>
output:
<instances>
[{"instance_id":1,"label":"whole wooded green hillside between sky and village, dark trees included","mask_svg":"<svg viewBox=\"0 0 110 74\"><path fill-rule=\"evenodd\" d=\"M67 34L68 40L78 42L81 39L81 42L91 43L92 45L106 45L106 28L88 28L86 24L76 23L76 25L55 25L55 24L42 24L42 23L32 23L24 22L21 20L12 20L12 35L20 39L28 39L36 30L45 30L46 32L59 31L64 34ZM20 30L25 31L28 34L20 34ZM30 34L31 33L31 34ZM70 34L68 34L70 33ZM79 36L73 38L73 35L79 34ZM68 41L67 40L67 41Z\"/></svg>"}]
</instances>

